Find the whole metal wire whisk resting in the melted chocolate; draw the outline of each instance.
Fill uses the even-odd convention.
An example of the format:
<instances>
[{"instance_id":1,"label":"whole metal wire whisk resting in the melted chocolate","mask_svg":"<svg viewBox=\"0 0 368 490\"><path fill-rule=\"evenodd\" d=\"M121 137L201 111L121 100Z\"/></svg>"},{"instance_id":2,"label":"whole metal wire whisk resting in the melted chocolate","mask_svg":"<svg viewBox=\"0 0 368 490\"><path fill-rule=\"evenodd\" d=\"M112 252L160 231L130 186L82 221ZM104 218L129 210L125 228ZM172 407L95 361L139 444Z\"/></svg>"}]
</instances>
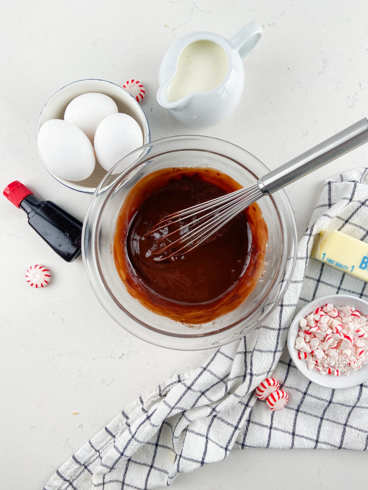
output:
<instances>
[{"instance_id":1,"label":"whole metal wire whisk resting in the melted chocolate","mask_svg":"<svg viewBox=\"0 0 368 490\"><path fill-rule=\"evenodd\" d=\"M248 187L166 216L149 232L157 237L156 248L152 251L155 260L189 253L261 197L284 188L367 141L368 120L364 118Z\"/></svg>"}]
</instances>

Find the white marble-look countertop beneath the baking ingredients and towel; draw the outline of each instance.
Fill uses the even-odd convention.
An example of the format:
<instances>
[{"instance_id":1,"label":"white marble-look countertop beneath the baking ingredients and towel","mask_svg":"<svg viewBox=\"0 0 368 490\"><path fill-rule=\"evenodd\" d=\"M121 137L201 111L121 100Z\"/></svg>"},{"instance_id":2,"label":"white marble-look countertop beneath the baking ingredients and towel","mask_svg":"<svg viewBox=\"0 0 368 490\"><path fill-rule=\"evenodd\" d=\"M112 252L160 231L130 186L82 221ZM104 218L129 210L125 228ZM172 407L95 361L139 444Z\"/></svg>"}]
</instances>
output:
<instances>
[{"instance_id":1,"label":"white marble-look countertop beneath the baking ingredients and towel","mask_svg":"<svg viewBox=\"0 0 368 490\"><path fill-rule=\"evenodd\" d=\"M241 102L202 134L244 147L273 169L368 115L364 0L3 2L1 190L19 179L82 219L89 196L56 182L37 153L36 123L46 100L81 78L123 84L134 77L146 87L142 108L153 140L193 134L156 101L165 50L187 32L231 37L251 21L263 25L264 35L245 62ZM367 157L368 147L360 147L287 188L299 236L324 179L366 166ZM4 198L0 206L0 487L36 490L141 392L209 353L169 351L134 338L100 306L81 259L64 263L21 211ZM24 279L35 263L54 274L42 292ZM364 487L366 462L357 452L246 449L179 475L172 488L243 488L255 481L260 490ZM348 471L332 470L342 465Z\"/></svg>"}]
</instances>

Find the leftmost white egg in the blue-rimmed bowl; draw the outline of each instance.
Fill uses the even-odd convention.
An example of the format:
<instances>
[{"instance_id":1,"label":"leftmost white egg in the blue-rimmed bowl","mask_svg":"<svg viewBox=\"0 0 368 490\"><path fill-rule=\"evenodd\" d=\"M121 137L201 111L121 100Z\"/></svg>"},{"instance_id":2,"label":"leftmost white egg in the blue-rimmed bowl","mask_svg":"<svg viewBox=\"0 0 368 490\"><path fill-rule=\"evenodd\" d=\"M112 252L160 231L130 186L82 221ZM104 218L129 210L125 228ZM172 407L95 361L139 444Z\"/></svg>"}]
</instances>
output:
<instances>
[{"instance_id":1,"label":"leftmost white egg in the blue-rimmed bowl","mask_svg":"<svg viewBox=\"0 0 368 490\"><path fill-rule=\"evenodd\" d=\"M84 180L96 164L92 143L79 127L62 119L51 119L38 132L38 148L50 169L66 180Z\"/></svg>"}]
</instances>

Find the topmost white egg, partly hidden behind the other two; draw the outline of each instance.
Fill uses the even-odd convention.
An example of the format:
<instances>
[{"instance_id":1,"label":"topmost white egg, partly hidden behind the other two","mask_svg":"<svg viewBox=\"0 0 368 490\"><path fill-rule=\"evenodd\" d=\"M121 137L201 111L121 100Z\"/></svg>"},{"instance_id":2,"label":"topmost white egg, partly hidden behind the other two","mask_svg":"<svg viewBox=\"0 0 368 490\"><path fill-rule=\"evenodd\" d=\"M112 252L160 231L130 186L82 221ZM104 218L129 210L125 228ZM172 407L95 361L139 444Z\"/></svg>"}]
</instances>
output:
<instances>
[{"instance_id":1,"label":"topmost white egg, partly hidden behind the other two","mask_svg":"<svg viewBox=\"0 0 368 490\"><path fill-rule=\"evenodd\" d=\"M118 106L105 94L82 94L69 102L64 121L79 127L93 144L97 126L110 114L116 114Z\"/></svg>"}]
</instances>

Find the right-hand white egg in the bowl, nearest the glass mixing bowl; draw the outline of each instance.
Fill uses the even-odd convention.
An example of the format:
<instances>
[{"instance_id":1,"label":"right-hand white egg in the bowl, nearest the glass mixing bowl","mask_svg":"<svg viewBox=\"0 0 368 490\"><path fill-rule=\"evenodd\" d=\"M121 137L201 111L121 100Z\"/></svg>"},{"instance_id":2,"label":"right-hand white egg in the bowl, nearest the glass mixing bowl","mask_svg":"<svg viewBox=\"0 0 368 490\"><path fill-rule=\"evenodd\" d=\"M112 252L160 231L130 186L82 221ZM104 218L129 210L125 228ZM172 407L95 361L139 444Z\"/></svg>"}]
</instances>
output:
<instances>
[{"instance_id":1,"label":"right-hand white egg in the bowl, nearest the glass mixing bowl","mask_svg":"<svg viewBox=\"0 0 368 490\"><path fill-rule=\"evenodd\" d=\"M95 134L95 152L101 167L109 171L115 164L135 148L143 145L143 134L139 124L128 114L107 116ZM127 159L126 166L134 158Z\"/></svg>"}]
</instances>

